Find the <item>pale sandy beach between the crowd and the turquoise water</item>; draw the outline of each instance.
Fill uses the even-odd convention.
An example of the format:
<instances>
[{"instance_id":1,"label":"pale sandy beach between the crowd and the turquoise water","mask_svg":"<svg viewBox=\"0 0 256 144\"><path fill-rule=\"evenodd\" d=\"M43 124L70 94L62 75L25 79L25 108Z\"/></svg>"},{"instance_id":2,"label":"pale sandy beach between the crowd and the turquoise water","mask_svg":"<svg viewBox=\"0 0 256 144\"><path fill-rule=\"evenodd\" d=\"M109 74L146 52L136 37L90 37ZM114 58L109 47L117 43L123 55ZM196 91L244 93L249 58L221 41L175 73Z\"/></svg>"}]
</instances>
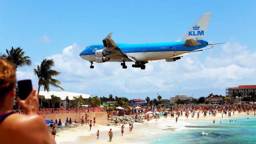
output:
<instances>
[{"instance_id":1,"label":"pale sandy beach between the crowd and the turquoise water","mask_svg":"<svg viewBox=\"0 0 256 144\"><path fill-rule=\"evenodd\" d=\"M249 115L247 112L242 112L238 114L238 111L231 114L231 118L228 117L228 115L225 116L221 113L217 113L217 115L209 116L207 114L206 117L203 116L202 113L200 113L200 118L197 120L196 116L194 118L191 117L191 115L186 118L184 115L180 116L178 118L178 122L175 122L175 117L171 118L168 116L167 118L161 117L156 121L156 119L151 119L150 121L144 121L144 123L134 123L134 128L132 132L129 132L129 125L124 125L124 134L121 135L121 126L122 124L118 124L118 126L102 126L97 125L92 126L92 130L90 131L88 125L84 126L78 126L76 128L68 128L66 130L61 130L57 132L56 135L56 142L57 144L86 144L86 143L94 143L94 144L102 144L107 143L109 140L108 137L108 131L110 128L112 128L113 132L113 138L112 142L114 144L129 144L129 143L138 143L140 138L150 138L154 135L164 134L167 132L175 132L180 131L183 129L186 129L185 126L196 126L195 123L197 122L213 122L215 120L215 123L220 123L221 120L235 120L240 118L255 118L254 112L249 112ZM97 140L96 132L97 130L100 130L100 136Z\"/></svg>"}]
</instances>

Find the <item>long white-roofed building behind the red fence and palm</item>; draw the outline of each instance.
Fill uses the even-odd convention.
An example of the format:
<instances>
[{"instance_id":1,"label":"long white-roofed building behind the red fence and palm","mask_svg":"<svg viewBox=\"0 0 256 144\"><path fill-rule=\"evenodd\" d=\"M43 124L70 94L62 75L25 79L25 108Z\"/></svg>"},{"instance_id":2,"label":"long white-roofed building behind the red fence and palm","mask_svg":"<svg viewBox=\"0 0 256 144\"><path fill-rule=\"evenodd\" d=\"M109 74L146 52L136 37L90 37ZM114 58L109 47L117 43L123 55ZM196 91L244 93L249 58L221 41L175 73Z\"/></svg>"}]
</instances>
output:
<instances>
[{"instance_id":1,"label":"long white-roofed building behind the red fence and palm","mask_svg":"<svg viewBox=\"0 0 256 144\"><path fill-rule=\"evenodd\" d=\"M73 100L73 97L80 97L83 100L85 100L90 98L91 96L90 94L80 94L75 92L40 91L38 95L40 103L42 99L51 98L51 95L60 97L60 99L62 100L62 103L60 105L62 105L64 108L66 108L67 106L70 106L70 101Z\"/></svg>"}]
</instances>

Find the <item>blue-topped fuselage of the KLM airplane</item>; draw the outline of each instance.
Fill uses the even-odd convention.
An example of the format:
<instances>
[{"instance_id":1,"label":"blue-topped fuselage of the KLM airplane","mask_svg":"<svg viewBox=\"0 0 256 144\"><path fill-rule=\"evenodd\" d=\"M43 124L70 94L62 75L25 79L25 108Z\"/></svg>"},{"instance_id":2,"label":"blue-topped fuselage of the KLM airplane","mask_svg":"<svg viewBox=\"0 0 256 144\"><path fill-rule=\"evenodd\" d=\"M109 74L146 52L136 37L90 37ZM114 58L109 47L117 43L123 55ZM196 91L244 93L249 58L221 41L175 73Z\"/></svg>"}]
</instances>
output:
<instances>
[{"instance_id":1,"label":"blue-topped fuselage of the KLM airplane","mask_svg":"<svg viewBox=\"0 0 256 144\"><path fill-rule=\"evenodd\" d=\"M134 58L136 61L151 61L151 60L163 60L204 48L208 45L206 40L197 40L202 45L193 47L184 47L185 42L165 42L165 43L152 43L152 44L118 44L118 48L122 50L124 54ZM80 57L90 62L95 62L95 51L105 48L103 44L93 44L87 46L81 53ZM120 56L109 54L110 60L107 62L122 62ZM129 60L127 61L129 62ZM132 61L130 61L132 62Z\"/></svg>"}]
</instances>

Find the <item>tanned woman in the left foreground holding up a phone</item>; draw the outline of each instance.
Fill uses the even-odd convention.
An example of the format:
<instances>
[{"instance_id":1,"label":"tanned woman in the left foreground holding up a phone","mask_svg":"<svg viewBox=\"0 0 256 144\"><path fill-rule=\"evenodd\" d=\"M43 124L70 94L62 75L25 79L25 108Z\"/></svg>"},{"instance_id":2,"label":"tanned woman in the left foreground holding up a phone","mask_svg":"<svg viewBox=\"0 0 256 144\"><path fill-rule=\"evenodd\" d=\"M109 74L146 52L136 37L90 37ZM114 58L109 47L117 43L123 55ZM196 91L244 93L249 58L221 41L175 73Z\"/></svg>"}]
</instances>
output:
<instances>
[{"instance_id":1,"label":"tanned woman in the left foreground holding up a phone","mask_svg":"<svg viewBox=\"0 0 256 144\"><path fill-rule=\"evenodd\" d=\"M13 114L16 86L15 66L0 59L0 140L5 144L56 144L44 120L37 115L38 98L32 88L24 100L18 98L26 115ZM30 89L30 88L28 88ZM15 136L15 138L14 138Z\"/></svg>"}]
</instances>

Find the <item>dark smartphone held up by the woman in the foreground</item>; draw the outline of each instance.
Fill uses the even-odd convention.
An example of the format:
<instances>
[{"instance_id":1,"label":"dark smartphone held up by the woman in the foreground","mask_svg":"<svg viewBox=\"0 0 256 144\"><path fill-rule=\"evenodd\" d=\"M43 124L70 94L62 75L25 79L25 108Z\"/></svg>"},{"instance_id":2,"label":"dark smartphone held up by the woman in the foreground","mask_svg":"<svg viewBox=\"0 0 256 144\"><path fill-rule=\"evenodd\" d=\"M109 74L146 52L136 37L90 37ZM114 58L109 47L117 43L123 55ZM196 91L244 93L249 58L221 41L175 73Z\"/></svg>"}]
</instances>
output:
<instances>
[{"instance_id":1,"label":"dark smartphone held up by the woman in the foreground","mask_svg":"<svg viewBox=\"0 0 256 144\"><path fill-rule=\"evenodd\" d=\"M31 80L20 80L18 81L18 95L19 98L25 100L32 91Z\"/></svg>"}]
</instances>

